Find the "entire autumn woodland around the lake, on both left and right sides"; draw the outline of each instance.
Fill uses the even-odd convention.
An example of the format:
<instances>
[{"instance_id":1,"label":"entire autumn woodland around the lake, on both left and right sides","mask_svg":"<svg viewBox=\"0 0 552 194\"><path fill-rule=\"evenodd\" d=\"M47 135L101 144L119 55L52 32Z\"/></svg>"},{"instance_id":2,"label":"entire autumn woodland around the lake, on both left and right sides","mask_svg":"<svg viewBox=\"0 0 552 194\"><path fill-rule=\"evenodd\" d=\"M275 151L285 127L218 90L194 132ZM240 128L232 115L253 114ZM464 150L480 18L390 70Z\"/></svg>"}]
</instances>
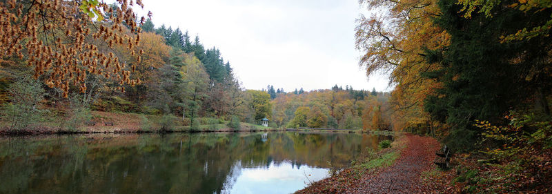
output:
<instances>
[{"instance_id":1,"label":"entire autumn woodland around the lake, on both left and right sides","mask_svg":"<svg viewBox=\"0 0 552 194\"><path fill-rule=\"evenodd\" d=\"M391 130L454 152L434 189L550 192L552 1L359 3L375 12L357 19L359 66L390 92L246 90L223 51L138 17L139 0L0 1L0 133Z\"/></svg>"}]
</instances>

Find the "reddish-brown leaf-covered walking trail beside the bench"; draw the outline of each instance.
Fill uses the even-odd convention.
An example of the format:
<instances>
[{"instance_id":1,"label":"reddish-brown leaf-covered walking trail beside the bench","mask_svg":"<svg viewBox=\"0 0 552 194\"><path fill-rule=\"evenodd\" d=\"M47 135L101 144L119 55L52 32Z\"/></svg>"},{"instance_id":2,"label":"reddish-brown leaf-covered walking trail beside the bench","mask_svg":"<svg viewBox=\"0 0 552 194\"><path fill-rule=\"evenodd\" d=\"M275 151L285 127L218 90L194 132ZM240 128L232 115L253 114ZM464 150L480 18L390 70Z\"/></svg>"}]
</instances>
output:
<instances>
[{"instance_id":1,"label":"reddish-brown leaf-covered walking trail beside the bench","mask_svg":"<svg viewBox=\"0 0 552 194\"><path fill-rule=\"evenodd\" d=\"M440 144L431 137L406 135L406 139L407 146L395 164L364 176L358 187L346 193L431 193L419 180L433 165Z\"/></svg>"}]
</instances>

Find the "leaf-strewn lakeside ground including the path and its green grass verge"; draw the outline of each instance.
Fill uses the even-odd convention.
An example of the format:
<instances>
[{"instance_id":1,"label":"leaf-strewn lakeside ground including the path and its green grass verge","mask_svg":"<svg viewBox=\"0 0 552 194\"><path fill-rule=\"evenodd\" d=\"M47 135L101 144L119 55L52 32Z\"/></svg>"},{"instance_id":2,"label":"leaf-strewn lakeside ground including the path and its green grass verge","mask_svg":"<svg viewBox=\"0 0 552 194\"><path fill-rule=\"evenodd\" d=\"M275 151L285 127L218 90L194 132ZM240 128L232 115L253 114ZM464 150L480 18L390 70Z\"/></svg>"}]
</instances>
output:
<instances>
[{"instance_id":1,"label":"leaf-strewn lakeside ground including the path and its green grass verge","mask_svg":"<svg viewBox=\"0 0 552 194\"><path fill-rule=\"evenodd\" d=\"M297 193L438 193L422 177L435 170L433 160L439 148L439 142L431 137L402 135L392 148ZM395 158L386 159L393 153ZM383 161L375 162L378 159Z\"/></svg>"}]
</instances>

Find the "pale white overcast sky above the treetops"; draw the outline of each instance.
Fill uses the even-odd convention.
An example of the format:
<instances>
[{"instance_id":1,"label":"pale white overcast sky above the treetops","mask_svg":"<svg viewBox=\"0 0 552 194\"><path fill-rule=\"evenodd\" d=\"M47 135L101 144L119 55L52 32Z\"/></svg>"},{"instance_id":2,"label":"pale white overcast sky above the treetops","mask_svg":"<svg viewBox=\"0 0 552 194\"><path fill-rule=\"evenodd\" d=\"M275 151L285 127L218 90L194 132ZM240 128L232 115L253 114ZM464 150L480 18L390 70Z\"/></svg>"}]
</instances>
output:
<instances>
[{"instance_id":1,"label":"pale white overcast sky above the treetops","mask_svg":"<svg viewBox=\"0 0 552 194\"><path fill-rule=\"evenodd\" d=\"M188 30L219 48L247 89L391 90L358 66L358 0L144 0L144 10L156 28Z\"/></svg>"}]
</instances>

